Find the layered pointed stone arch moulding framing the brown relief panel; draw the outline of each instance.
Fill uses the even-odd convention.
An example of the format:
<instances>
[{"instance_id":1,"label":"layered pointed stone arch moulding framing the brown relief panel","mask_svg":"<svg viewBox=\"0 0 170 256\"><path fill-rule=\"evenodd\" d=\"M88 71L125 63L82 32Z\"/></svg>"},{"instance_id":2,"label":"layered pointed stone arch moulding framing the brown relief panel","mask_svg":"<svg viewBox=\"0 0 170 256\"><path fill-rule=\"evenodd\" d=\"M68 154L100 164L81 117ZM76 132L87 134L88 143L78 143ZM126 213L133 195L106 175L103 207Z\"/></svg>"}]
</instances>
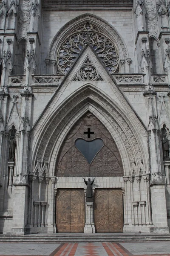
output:
<instances>
[{"instance_id":1,"label":"layered pointed stone arch moulding framing the brown relief panel","mask_svg":"<svg viewBox=\"0 0 170 256\"><path fill-rule=\"evenodd\" d=\"M133 124L130 124L118 105L114 105L110 99L90 84L70 95L69 99L66 99L48 120L46 127L42 129L39 139L34 144L31 161L33 165L37 159L42 163L47 161L49 173L54 175L57 155L65 136L87 111L93 113L108 129L119 148L122 162L126 159L126 162L129 163L126 170L124 168L124 175L125 173L129 175L133 163L136 168L139 163L142 163L147 169L147 153L142 150L142 145L139 143L140 138L137 138L141 134L134 131Z\"/></svg>"}]
</instances>

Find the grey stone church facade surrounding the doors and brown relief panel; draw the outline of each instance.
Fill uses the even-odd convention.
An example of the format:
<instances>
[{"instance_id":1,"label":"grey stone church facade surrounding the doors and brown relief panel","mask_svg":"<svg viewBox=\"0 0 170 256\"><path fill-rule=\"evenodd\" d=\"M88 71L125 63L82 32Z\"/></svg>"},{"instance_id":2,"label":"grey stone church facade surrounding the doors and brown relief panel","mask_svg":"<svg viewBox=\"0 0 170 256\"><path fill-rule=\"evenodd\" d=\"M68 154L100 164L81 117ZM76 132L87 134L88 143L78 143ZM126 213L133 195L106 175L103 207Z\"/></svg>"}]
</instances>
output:
<instances>
[{"instance_id":1,"label":"grey stone church facade surrounding the doors and brown relief panel","mask_svg":"<svg viewBox=\"0 0 170 256\"><path fill-rule=\"evenodd\" d=\"M169 6L134 0L115 9L113 2L74 10L71 3L65 9L50 1L1 3L0 233L56 232L57 188L84 188L82 177L55 177L59 150L87 111L111 134L124 170L123 178L97 177L94 193L122 189L124 232L169 232L170 160L162 152L163 134L170 140ZM59 73L59 46L85 22L115 45L119 73L109 74L88 45L66 75ZM23 73L17 74L22 38ZM93 79L81 76L89 63Z\"/></svg>"}]
</instances>

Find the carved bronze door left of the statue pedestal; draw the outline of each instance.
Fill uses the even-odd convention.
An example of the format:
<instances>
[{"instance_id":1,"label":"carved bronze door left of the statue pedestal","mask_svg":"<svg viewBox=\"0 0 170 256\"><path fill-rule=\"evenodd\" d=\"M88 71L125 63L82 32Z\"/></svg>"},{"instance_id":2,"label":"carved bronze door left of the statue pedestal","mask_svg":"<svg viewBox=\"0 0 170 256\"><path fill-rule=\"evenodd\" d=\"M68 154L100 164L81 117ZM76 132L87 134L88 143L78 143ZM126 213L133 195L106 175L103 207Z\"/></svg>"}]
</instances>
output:
<instances>
[{"instance_id":1,"label":"carved bronze door left of the statue pedestal","mask_svg":"<svg viewBox=\"0 0 170 256\"><path fill-rule=\"evenodd\" d=\"M57 232L83 233L85 193L83 189L57 189Z\"/></svg>"}]
</instances>

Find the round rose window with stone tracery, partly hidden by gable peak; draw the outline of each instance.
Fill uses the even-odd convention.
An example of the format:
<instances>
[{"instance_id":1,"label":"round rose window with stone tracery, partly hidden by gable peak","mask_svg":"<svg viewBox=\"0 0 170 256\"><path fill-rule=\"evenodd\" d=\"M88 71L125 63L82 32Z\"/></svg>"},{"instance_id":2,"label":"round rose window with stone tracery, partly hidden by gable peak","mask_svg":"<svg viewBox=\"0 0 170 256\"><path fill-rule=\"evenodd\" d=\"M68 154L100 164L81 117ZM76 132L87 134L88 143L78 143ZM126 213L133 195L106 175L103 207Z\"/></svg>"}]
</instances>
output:
<instances>
[{"instance_id":1,"label":"round rose window with stone tracery, partly hidden by gable peak","mask_svg":"<svg viewBox=\"0 0 170 256\"><path fill-rule=\"evenodd\" d=\"M99 28L91 23L79 26L59 46L57 63L59 73L66 74L86 44L90 44L103 61L109 73L119 73L119 55L115 45Z\"/></svg>"}]
</instances>

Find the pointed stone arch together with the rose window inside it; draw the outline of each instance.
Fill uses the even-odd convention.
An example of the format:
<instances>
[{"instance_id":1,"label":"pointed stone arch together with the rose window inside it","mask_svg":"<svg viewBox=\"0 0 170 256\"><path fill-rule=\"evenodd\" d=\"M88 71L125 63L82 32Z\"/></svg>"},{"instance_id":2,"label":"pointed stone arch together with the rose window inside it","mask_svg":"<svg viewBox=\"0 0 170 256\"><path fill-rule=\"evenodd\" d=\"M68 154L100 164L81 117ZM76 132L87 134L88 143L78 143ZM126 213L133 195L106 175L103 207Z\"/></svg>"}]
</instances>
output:
<instances>
[{"instance_id":1,"label":"pointed stone arch together with the rose window inside it","mask_svg":"<svg viewBox=\"0 0 170 256\"><path fill-rule=\"evenodd\" d=\"M71 20L54 37L46 62L49 65L51 60L52 73L65 75L87 44L93 47L109 73L119 73L120 59L128 57L125 44L109 23L91 14Z\"/></svg>"}]
</instances>

